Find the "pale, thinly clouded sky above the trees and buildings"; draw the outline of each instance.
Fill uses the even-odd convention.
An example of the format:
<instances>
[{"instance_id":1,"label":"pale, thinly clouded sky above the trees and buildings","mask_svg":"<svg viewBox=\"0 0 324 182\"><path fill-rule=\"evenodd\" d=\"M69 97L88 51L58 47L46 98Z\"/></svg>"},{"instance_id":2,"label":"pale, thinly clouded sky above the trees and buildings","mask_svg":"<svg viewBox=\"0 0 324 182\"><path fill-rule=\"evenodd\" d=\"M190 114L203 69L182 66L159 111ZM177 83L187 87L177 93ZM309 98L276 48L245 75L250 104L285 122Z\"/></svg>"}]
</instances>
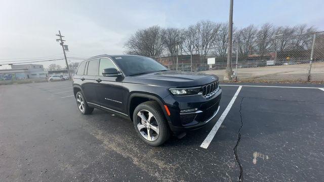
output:
<instances>
[{"instance_id":1,"label":"pale, thinly clouded sky above the trees and buildings","mask_svg":"<svg viewBox=\"0 0 324 182\"><path fill-rule=\"evenodd\" d=\"M0 0L0 62L8 58L60 57L58 30L69 56L123 54L125 41L152 25L187 27L199 20L227 22L229 0L14 1ZM236 27L314 25L324 30L323 0L234 0ZM52 63L64 65L64 61ZM50 63L41 63L47 67ZM1 67L0 67L1 68Z\"/></svg>"}]
</instances>

